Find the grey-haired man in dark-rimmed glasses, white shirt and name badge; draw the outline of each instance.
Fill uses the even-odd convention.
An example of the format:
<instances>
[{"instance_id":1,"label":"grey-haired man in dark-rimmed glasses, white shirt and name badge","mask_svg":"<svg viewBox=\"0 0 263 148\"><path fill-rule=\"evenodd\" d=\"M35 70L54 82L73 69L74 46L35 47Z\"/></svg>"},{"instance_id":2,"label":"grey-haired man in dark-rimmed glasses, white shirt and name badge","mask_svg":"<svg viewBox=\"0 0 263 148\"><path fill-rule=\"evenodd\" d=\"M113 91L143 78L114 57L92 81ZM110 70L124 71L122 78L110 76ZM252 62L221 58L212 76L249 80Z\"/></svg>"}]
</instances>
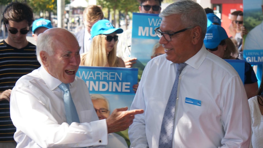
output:
<instances>
[{"instance_id":1,"label":"grey-haired man in dark-rimmed glasses, white shirt and name badge","mask_svg":"<svg viewBox=\"0 0 263 148\"><path fill-rule=\"evenodd\" d=\"M147 63L131 105L131 148L248 147L250 111L238 73L207 51L207 16L192 0L159 15L165 53ZM211 33L209 36L213 36Z\"/></svg>"}]
</instances>

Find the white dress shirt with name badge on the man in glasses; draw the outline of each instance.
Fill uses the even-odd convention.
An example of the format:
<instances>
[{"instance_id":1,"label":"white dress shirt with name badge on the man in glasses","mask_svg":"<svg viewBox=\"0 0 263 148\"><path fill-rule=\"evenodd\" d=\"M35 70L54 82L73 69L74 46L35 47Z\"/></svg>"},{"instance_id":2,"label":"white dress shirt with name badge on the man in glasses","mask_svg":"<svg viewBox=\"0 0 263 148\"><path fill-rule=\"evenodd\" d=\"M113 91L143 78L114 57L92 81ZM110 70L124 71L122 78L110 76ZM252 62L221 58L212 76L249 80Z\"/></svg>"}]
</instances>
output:
<instances>
[{"instance_id":1,"label":"white dress shirt with name badge on the man in glasses","mask_svg":"<svg viewBox=\"0 0 263 148\"><path fill-rule=\"evenodd\" d=\"M248 147L250 113L243 83L225 60L205 46L188 59L179 76L173 148ZM130 147L157 148L164 110L176 78L176 64L166 54L147 63L131 110ZM201 106L186 103L186 97Z\"/></svg>"}]
</instances>

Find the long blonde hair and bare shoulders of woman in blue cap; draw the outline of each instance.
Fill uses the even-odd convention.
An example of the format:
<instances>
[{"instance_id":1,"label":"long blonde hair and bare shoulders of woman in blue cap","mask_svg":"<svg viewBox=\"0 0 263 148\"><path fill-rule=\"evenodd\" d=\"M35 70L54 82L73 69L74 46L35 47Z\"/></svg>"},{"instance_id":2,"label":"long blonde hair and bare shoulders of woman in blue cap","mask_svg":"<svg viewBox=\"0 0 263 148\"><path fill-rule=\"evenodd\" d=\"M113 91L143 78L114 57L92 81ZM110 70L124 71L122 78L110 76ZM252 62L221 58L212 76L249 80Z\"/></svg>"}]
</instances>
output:
<instances>
[{"instance_id":1,"label":"long blonde hair and bare shoulders of woman in blue cap","mask_svg":"<svg viewBox=\"0 0 263 148\"><path fill-rule=\"evenodd\" d=\"M108 56L106 53L105 42L108 41L106 41L106 36L103 34L93 37L89 51L81 55L80 65L105 67L108 62L110 67L117 67L117 42L115 42L115 45L112 51L109 52Z\"/></svg>"}]
</instances>

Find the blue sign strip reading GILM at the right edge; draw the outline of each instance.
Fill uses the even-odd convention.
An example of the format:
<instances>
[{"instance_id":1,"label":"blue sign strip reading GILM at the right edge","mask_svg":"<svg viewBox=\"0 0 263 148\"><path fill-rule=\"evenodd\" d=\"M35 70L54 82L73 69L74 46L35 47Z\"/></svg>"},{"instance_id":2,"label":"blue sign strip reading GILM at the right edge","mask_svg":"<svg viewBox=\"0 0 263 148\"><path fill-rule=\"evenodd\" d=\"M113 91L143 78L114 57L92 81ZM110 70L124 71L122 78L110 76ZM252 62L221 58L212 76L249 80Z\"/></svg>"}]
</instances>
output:
<instances>
[{"instance_id":1,"label":"blue sign strip reading GILM at the right edge","mask_svg":"<svg viewBox=\"0 0 263 148\"><path fill-rule=\"evenodd\" d=\"M244 60L246 60L251 65L258 65L263 63L263 50L244 50L243 52Z\"/></svg>"}]
</instances>

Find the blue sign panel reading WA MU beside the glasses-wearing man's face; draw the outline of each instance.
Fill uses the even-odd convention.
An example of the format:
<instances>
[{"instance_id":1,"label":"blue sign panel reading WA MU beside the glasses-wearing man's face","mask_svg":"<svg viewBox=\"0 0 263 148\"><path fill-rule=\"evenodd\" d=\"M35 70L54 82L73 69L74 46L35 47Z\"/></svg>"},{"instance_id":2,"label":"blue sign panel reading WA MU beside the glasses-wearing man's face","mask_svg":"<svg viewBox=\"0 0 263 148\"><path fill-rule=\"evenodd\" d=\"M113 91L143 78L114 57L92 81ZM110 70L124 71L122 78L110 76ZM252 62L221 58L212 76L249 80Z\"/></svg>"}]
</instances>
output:
<instances>
[{"instance_id":1,"label":"blue sign panel reading WA MU beside the glasses-wearing man's face","mask_svg":"<svg viewBox=\"0 0 263 148\"><path fill-rule=\"evenodd\" d=\"M154 29L160 27L158 14L132 13L132 38L159 39Z\"/></svg>"}]
</instances>

